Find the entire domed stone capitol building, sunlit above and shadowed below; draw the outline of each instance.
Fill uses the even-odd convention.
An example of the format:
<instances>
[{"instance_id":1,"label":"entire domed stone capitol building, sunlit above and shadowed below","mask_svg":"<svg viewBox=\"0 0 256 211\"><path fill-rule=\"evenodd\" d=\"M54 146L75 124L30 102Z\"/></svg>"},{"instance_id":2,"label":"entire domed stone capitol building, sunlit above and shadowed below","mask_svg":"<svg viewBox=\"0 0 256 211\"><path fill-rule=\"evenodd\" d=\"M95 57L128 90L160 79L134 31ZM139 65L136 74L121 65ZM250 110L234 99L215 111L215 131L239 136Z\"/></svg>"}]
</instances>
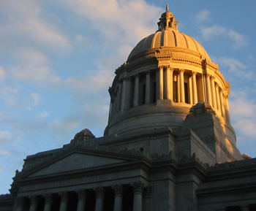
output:
<instances>
[{"instance_id":1,"label":"entire domed stone capitol building, sunlit above and shadowed below","mask_svg":"<svg viewBox=\"0 0 256 211\"><path fill-rule=\"evenodd\" d=\"M27 156L0 210L256 210L256 158L236 147L230 84L168 7L157 25L116 69L104 136L86 128Z\"/></svg>"}]
</instances>

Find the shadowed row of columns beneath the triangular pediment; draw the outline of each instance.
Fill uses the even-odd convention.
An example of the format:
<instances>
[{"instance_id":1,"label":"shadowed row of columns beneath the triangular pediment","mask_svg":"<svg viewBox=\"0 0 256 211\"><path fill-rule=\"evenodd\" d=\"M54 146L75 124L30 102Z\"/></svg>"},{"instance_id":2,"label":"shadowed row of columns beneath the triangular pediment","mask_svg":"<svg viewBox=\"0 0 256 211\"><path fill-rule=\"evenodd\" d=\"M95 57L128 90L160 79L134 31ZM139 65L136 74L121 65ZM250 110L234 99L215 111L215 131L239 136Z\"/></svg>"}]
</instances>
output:
<instances>
[{"instance_id":1,"label":"shadowed row of columns beneath the triangular pediment","mask_svg":"<svg viewBox=\"0 0 256 211\"><path fill-rule=\"evenodd\" d=\"M133 199L133 203L129 203L129 206L132 206L131 210L150 211L151 207L149 204L151 204L151 202L148 202L148 201L152 200L153 191L151 186L146 187L143 183L138 182L138 183L130 184L129 187L131 187L131 190L133 190L130 192L130 193L133 193L133 196L130 196L129 194L128 195L126 194L125 196L128 197L129 200ZM113 208L108 207L108 210L111 210L111 209L113 209L113 211L123 210L123 202L124 200L127 200L127 199L124 199L123 197L123 193L124 193L123 185L113 185L111 189L112 189L111 193L113 193L114 195ZM86 203L87 203L86 199L88 196L88 191L89 190L86 190L86 189L79 189L75 191L76 203L72 204L72 210L86 211ZM104 207L105 188L103 188L102 186L99 186L97 188L94 188L93 191L94 191L94 197L96 198L96 202L94 204L94 211L103 211L104 209L106 209L106 207ZM17 211L25 211L25 210L38 211L43 209L43 211L51 211L53 210L54 200L59 200L60 201L60 202L58 201L59 211L68 211L68 206L70 205L69 199L70 199L71 193L74 193L74 191L60 192L57 194L58 199L56 199L56 196L53 196L54 194L56 195L56 193L32 195L29 197L20 196L16 199L16 210ZM110 192L108 192L108 195L109 194ZM40 207L38 206L39 201L41 202ZM43 205L42 205L42 201L43 201ZM25 202L27 202L27 206L24 206ZM29 206L28 206L28 203L29 203ZM91 208L89 208L88 210L91 211Z\"/></svg>"}]
</instances>

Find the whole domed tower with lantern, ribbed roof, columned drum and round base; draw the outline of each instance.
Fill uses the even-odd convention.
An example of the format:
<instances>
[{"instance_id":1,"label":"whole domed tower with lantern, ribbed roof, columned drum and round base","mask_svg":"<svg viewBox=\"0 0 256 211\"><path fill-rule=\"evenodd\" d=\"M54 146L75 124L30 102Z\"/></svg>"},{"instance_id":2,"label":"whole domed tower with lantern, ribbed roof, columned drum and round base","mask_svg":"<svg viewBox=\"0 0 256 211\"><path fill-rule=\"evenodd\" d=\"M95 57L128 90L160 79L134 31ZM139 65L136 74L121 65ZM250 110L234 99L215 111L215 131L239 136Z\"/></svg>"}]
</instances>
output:
<instances>
[{"instance_id":1,"label":"whole domed tower with lantern, ribbed roof, columned drum and round base","mask_svg":"<svg viewBox=\"0 0 256 211\"><path fill-rule=\"evenodd\" d=\"M199 101L207 102L219 120L230 125L229 83L203 46L178 31L177 23L166 6L158 30L138 42L116 69L105 135L181 128Z\"/></svg>"}]
</instances>

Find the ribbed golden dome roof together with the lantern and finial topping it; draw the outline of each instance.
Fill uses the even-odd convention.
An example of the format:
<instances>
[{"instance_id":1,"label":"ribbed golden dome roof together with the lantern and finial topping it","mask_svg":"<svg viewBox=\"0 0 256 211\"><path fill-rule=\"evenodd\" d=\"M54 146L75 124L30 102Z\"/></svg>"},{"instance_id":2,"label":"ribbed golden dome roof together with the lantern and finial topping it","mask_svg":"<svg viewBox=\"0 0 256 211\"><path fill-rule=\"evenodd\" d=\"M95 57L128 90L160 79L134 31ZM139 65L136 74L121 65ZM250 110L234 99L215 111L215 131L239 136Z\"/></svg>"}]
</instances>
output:
<instances>
[{"instance_id":1,"label":"ribbed golden dome roof together with the lantern and finial topping it","mask_svg":"<svg viewBox=\"0 0 256 211\"><path fill-rule=\"evenodd\" d=\"M178 31L178 22L175 20L173 14L169 12L168 7L166 7L166 12L162 14L159 20L159 30L155 34L151 34L142 39L138 45L133 48L127 59L128 62L140 58L142 55L150 54L150 50L155 51L157 48L161 47L168 47L168 50L188 50L188 53L191 51L191 53L195 53L211 61L206 50L204 50L199 42L187 34Z\"/></svg>"}]
</instances>

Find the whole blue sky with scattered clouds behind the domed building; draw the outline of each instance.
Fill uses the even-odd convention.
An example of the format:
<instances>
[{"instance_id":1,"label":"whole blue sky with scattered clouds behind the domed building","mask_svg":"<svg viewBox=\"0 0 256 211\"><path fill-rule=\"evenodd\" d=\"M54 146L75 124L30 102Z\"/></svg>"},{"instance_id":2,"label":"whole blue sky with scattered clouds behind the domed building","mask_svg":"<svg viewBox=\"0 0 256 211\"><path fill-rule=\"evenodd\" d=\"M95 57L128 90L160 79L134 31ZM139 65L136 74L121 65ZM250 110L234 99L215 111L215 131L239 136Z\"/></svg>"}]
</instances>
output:
<instances>
[{"instance_id":1,"label":"whole blue sky with scattered clouds behind the domed building","mask_svg":"<svg viewBox=\"0 0 256 211\"><path fill-rule=\"evenodd\" d=\"M238 149L256 157L256 1L0 0L0 194L26 156L102 137L114 72L166 4L230 82Z\"/></svg>"}]
</instances>

